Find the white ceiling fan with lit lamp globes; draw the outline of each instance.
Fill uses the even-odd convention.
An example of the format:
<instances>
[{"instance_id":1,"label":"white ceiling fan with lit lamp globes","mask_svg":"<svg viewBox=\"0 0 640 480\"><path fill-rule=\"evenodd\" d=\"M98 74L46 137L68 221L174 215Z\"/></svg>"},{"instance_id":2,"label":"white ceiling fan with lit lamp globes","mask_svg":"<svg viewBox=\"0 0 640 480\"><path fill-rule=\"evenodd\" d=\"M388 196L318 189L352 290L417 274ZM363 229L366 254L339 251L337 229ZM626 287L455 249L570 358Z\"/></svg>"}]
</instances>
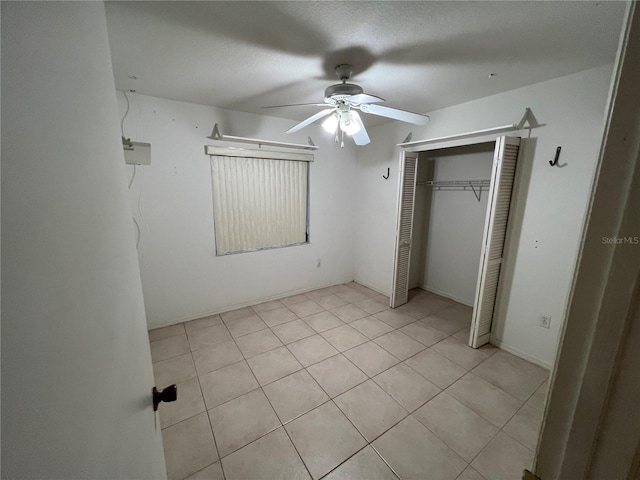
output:
<instances>
[{"instance_id":1,"label":"white ceiling fan with lit lamp globes","mask_svg":"<svg viewBox=\"0 0 640 480\"><path fill-rule=\"evenodd\" d=\"M359 85L347 83L347 80L349 80L353 73L353 66L349 64L338 65L335 68L335 72L342 83L331 85L325 89L324 103L298 103L293 105L274 105L264 108L296 107L303 105L328 107L294 125L287 130L286 133L295 133L316 120L327 117L324 122L322 122L323 128L327 132L335 135L336 142L338 141L338 135L340 133L342 135L343 147L345 133L353 137L356 145L366 145L371 141L357 110L416 125L426 125L429 121L429 117L426 115L378 105L378 103L384 102L383 98L364 93L364 90Z\"/></svg>"}]
</instances>

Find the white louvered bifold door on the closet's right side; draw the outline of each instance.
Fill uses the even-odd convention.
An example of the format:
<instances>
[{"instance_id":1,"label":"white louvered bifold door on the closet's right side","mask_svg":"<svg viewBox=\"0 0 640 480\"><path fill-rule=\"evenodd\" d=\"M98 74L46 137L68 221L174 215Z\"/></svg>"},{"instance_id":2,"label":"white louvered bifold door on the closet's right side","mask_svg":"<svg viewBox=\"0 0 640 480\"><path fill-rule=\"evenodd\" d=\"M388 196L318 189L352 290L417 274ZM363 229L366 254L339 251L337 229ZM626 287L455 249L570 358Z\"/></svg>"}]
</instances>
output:
<instances>
[{"instance_id":1,"label":"white louvered bifold door on the closet's right side","mask_svg":"<svg viewBox=\"0 0 640 480\"><path fill-rule=\"evenodd\" d=\"M491 334L519 148L519 138L499 137L496 140L478 283L469 334L469 346L473 348L488 343Z\"/></svg>"}]
</instances>

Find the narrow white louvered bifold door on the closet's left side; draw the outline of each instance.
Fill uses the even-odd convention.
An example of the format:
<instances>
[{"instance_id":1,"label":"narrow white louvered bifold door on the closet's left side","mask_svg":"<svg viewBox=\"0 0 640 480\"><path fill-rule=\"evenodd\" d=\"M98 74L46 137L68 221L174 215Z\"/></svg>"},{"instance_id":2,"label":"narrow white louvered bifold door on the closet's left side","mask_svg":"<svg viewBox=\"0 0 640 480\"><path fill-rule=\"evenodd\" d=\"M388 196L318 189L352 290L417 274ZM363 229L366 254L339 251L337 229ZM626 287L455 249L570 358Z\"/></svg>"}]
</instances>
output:
<instances>
[{"instance_id":1,"label":"narrow white louvered bifold door on the closet's left side","mask_svg":"<svg viewBox=\"0 0 640 480\"><path fill-rule=\"evenodd\" d=\"M396 227L391 308L404 305L409 300L409 263L411 259L411 231L413 230L417 168L417 153L402 152L400 154L400 191L398 195L398 223Z\"/></svg>"}]
</instances>

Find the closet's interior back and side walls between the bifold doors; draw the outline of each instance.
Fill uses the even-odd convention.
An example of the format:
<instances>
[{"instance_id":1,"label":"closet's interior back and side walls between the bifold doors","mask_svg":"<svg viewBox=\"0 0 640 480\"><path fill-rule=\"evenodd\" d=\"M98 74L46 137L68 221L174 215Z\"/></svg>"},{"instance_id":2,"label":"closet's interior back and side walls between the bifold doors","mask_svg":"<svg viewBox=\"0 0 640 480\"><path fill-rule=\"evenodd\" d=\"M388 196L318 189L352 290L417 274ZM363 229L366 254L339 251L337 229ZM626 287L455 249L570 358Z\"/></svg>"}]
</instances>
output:
<instances>
[{"instance_id":1,"label":"closet's interior back and side walls between the bifold doors","mask_svg":"<svg viewBox=\"0 0 640 480\"><path fill-rule=\"evenodd\" d=\"M437 190L424 182L489 179L494 148L487 142L420 152L409 288L473 306L488 187L478 201L470 189Z\"/></svg>"}]
</instances>

